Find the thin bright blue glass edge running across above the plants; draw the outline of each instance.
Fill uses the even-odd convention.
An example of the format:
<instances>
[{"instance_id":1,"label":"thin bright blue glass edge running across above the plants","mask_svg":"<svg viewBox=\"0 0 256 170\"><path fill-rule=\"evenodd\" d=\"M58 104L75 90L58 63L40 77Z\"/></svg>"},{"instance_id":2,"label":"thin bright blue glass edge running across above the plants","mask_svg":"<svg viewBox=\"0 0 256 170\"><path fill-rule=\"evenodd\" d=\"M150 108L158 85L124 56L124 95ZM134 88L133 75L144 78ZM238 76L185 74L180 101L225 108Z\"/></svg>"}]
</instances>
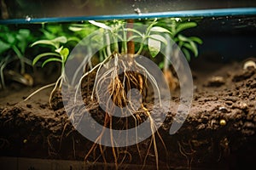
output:
<instances>
[{"instance_id":1,"label":"thin bright blue glass edge running across above the plants","mask_svg":"<svg viewBox=\"0 0 256 170\"><path fill-rule=\"evenodd\" d=\"M117 14L117 15L95 15L95 16L74 16L74 17L53 17L53 18L26 18L0 20L0 25L7 24L32 24L47 22L76 22L82 20L125 20L125 19L149 19L149 18L167 18L167 17L215 17L230 15L256 15L255 8L214 8L199 10L183 10L147 14Z\"/></svg>"}]
</instances>

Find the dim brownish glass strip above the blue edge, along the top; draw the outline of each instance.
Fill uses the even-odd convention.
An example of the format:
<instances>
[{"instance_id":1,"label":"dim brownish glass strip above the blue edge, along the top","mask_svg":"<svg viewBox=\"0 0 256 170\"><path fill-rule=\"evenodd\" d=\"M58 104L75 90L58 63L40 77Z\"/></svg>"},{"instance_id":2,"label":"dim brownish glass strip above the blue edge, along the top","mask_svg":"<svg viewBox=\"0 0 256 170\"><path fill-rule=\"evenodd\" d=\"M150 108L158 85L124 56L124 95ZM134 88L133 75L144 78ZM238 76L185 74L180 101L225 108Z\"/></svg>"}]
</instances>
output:
<instances>
[{"instance_id":1,"label":"dim brownish glass strip above the blue edge, along the top","mask_svg":"<svg viewBox=\"0 0 256 170\"><path fill-rule=\"evenodd\" d=\"M181 10L212 9L212 8L248 8L256 7L254 0L1 0L1 19L22 19L30 21L39 18L55 17L89 17L105 15L131 15L166 13ZM244 13L251 13L242 11ZM214 12L214 11L213 11ZM232 12L232 11L230 11ZM256 13L256 10L253 10ZM133 14L133 15L132 15ZM175 13L176 14L176 13ZM178 12L178 14L183 14ZM107 16L106 16L107 15ZM170 14L169 14L170 15ZM187 14L188 15L188 14ZM104 19L100 17L99 19ZM125 16L123 16L125 17ZM114 17L113 17L114 18ZM90 19L90 18L85 18ZM79 20L79 18L77 18Z\"/></svg>"}]
</instances>

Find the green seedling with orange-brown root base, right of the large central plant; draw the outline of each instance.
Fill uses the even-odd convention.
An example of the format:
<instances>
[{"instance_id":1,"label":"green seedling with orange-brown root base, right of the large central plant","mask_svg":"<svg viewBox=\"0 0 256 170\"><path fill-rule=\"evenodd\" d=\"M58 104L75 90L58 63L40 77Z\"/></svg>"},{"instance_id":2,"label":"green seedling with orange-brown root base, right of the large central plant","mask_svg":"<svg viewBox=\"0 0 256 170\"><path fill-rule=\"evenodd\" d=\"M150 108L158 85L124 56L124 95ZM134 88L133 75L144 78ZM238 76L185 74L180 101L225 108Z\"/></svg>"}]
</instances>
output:
<instances>
[{"instance_id":1,"label":"green seedling with orange-brown root base, right of the large central plant","mask_svg":"<svg viewBox=\"0 0 256 170\"><path fill-rule=\"evenodd\" d=\"M191 54L195 57L198 56L198 44L202 43L200 37L186 37L183 35L183 31L186 31L190 28L197 26L197 23L194 21L184 21L185 19L180 18L168 18L160 20L158 26L163 26L169 31L169 35L173 40L171 46L166 48L166 57L160 62L160 68L163 69L164 75L171 90L174 90L178 86L177 78L173 76L172 71L170 71L170 61L173 59L177 60L179 57L180 50L183 52L186 59L189 61L191 59ZM178 47L178 48L177 48ZM176 67L182 67L176 62Z\"/></svg>"}]
</instances>

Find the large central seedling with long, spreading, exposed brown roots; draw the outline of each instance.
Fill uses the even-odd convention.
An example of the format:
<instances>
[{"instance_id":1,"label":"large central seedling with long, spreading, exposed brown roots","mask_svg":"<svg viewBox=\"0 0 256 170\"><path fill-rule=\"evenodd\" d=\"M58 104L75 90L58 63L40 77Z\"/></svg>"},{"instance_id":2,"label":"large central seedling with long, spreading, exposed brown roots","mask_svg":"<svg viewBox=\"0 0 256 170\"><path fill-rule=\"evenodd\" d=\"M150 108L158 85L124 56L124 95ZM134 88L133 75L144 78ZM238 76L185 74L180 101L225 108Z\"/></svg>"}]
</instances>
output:
<instances>
[{"instance_id":1,"label":"large central seedling with long, spreading, exposed brown roots","mask_svg":"<svg viewBox=\"0 0 256 170\"><path fill-rule=\"evenodd\" d=\"M161 33L171 33L171 32L166 30L163 27L155 26L157 24L157 20L154 20L148 26L145 32L144 31L142 32L137 30L136 28L133 28L132 23L128 23L127 26L125 26L125 21L123 20L113 21L113 24L109 24L108 22L102 23L102 22L96 22L94 20L90 20L90 24L92 24L93 26L97 26L98 29L101 30L102 32L101 35L97 34L95 35L95 37L91 37L90 39L102 38L100 41L97 41L97 42L106 41L105 44L108 44L108 45L106 48L102 48L100 51L100 54L103 55L102 61L96 66L94 66L93 68L91 68L90 71L85 72L83 77L80 78L79 84L77 85L74 104L76 103L76 99L77 99L76 96L78 94L79 87L81 86L82 80L84 79L84 77L87 77L92 71L96 71L96 82L94 84L90 99L94 100L96 97L98 100L105 100L105 101L107 100L106 105L108 105L108 108L106 109L105 123L106 125L111 126L113 117L108 115L108 112L113 112L112 108L114 105L118 106L119 108L122 108L124 105L127 104L128 102L127 92L131 88L137 88L139 93L143 96L143 100L144 100L146 97L145 91L147 91L147 88L148 88L147 81L153 82L152 86L156 87L157 93L159 96L159 101L160 101L160 88L158 86L158 83L154 79L154 76L151 75L151 73L143 65L140 65L139 63L137 63L135 58L138 57L139 54L143 52L143 49L145 48L145 46L148 47L150 54L154 57L156 54L160 52L160 48L162 44L167 44L166 38L161 36ZM79 28L74 29L73 27L73 30L79 30ZM133 43L134 40L136 40L137 42L140 42L138 44L139 48L137 48L137 51L134 48L134 43ZM113 44L110 44L110 42L113 42ZM119 45L118 42L121 42L121 46ZM114 60L113 65L110 65L110 66L106 65L110 59ZM102 67L108 68L108 70L104 72L103 75L100 73L100 70ZM119 75L119 70L123 70L125 72ZM143 74L139 74L138 73L139 71L143 71ZM102 84L106 81L109 82L108 90L104 91L102 94L102 92L98 92L96 89L101 88ZM108 94L104 94L104 93L110 94L111 98L104 99L105 96L108 96ZM113 102L110 102L110 100L112 100ZM156 165L157 167L159 167L158 166L158 150L157 150L156 140L154 136L154 132L156 129L154 120L151 117L148 109L143 105L143 103L141 104L141 109L143 110L143 114L148 117L151 124L150 127L152 130L152 142L150 143L149 148L151 148L152 145L154 146ZM133 106L131 106L131 108L129 108L128 111L130 112L131 116L134 117L135 122L138 122L138 120L141 120L141 117L137 114L137 110L135 110ZM128 125L126 126L128 127ZM104 133L104 130L102 130L102 133ZM97 140L101 140L102 138L101 136L99 136ZM84 158L85 160L87 160L88 156L90 156L93 150L96 149L96 146L97 144L95 143L92 146L91 150L85 156ZM137 145L137 148L139 151L138 145ZM100 149L102 150L101 145L100 145ZM118 151L113 149L113 157L114 157L114 162L116 167L118 167L117 155L118 155ZM104 156L103 150L102 150L102 156ZM105 160L105 158L103 159ZM144 163L146 162L146 159L147 159L147 156L145 157Z\"/></svg>"}]
</instances>

